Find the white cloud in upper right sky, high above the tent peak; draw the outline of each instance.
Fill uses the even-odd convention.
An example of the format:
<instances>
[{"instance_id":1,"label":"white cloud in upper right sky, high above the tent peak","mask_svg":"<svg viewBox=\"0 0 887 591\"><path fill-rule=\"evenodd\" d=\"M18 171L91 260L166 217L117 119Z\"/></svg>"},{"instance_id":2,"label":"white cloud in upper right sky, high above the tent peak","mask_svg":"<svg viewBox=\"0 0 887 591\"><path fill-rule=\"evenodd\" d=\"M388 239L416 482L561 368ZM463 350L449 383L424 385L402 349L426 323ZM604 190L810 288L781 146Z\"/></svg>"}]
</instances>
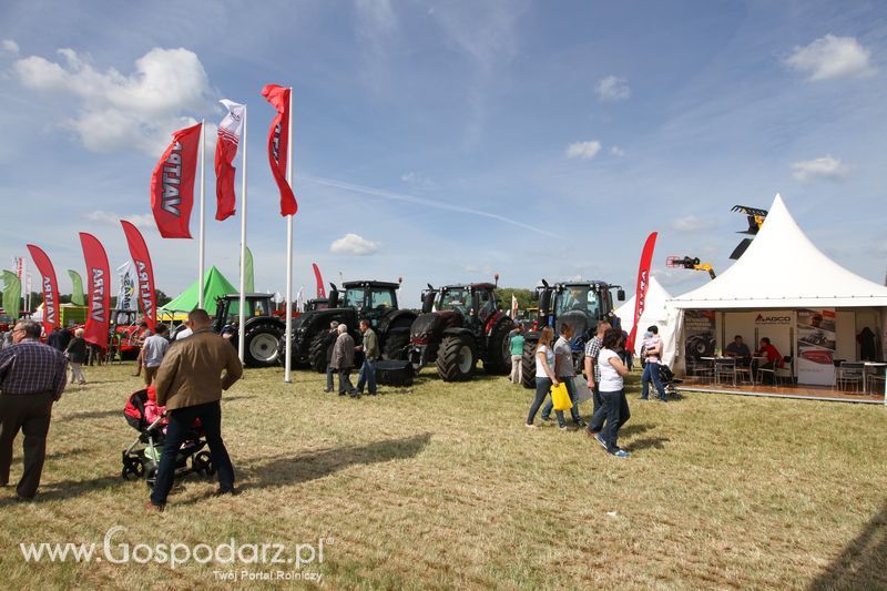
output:
<instances>
[{"instance_id":1,"label":"white cloud in upper right sky, high above the tent peak","mask_svg":"<svg viewBox=\"0 0 887 591\"><path fill-rule=\"evenodd\" d=\"M869 75L871 52L856 38L827 34L806 47L796 47L785 59L786 65L809 74L810 81Z\"/></svg>"}]
</instances>

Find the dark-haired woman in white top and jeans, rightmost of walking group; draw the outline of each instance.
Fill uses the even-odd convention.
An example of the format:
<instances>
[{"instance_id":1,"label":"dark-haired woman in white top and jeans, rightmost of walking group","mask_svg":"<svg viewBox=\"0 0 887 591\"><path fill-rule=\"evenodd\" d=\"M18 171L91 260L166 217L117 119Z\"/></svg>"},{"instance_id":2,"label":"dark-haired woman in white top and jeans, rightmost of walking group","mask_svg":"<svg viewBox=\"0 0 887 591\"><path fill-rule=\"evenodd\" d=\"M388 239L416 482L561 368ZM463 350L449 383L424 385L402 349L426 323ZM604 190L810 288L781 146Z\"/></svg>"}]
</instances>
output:
<instances>
[{"instance_id":1,"label":"dark-haired woman in white top and jeans, rightmost of walking group","mask_svg":"<svg viewBox=\"0 0 887 591\"><path fill-rule=\"evenodd\" d=\"M619 429L631 418L629 401L625 399L625 385L623 377L629 369L619 357L619 351L625 344L622 330L610 328L603 335L603 346L598 355L598 370L600 379L598 387L601 391L601 407L591 417L589 431L609 454L618 458L628 458L631 454L620 449L616 445ZM604 420L606 425L604 426Z\"/></svg>"}]
</instances>

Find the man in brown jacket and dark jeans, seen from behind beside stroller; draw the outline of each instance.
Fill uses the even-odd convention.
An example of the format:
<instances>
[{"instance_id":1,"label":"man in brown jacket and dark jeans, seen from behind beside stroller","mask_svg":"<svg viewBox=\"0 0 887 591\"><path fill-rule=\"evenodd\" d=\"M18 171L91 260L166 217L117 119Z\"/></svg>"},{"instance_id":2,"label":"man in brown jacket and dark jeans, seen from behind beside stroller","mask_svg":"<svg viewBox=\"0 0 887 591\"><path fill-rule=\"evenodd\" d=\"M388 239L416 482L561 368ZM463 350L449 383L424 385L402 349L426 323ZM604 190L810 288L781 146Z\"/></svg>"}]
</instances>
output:
<instances>
[{"instance_id":1,"label":"man in brown jacket and dark jeans, seen from behind beside stroller","mask_svg":"<svg viewBox=\"0 0 887 591\"><path fill-rule=\"evenodd\" d=\"M175 457L192 430L195 419L210 445L218 473L216 495L234 495L234 467L222 440L222 390L243 376L237 350L212 332L206 310L196 308L187 315L193 335L176 342L163 358L156 377L157 406L166 407L170 425L163 442L157 479L146 507L162 511L173 487ZM224 375L222 371L225 371Z\"/></svg>"}]
</instances>

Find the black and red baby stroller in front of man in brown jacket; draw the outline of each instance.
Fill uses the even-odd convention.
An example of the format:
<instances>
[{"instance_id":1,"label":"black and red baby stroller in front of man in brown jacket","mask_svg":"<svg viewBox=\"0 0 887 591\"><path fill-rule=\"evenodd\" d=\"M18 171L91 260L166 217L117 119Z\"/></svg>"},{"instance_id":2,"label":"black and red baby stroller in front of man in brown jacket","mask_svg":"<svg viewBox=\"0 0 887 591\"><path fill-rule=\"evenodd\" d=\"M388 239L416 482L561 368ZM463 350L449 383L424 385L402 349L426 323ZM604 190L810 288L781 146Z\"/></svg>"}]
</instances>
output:
<instances>
[{"instance_id":1,"label":"black and red baby stroller in front of man in brown jacket","mask_svg":"<svg viewBox=\"0 0 887 591\"><path fill-rule=\"evenodd\" d=\"M153 389L154 387L151 386L150 389L133 393L126 400L123 415L126 417L126 422L139 431L139 437L123 450L123 471L121 472L124 480L144 478L150 489L154 488L156 481L167 422L165 409L156 405ZM215 473L213 458L208 451L203 449L204 447L206 447L206 440L197 422L175 457L175 478L182 478L192 472L206 477ZM191 460L190 468L188 459Z\"/></svg>"}]
</instances>

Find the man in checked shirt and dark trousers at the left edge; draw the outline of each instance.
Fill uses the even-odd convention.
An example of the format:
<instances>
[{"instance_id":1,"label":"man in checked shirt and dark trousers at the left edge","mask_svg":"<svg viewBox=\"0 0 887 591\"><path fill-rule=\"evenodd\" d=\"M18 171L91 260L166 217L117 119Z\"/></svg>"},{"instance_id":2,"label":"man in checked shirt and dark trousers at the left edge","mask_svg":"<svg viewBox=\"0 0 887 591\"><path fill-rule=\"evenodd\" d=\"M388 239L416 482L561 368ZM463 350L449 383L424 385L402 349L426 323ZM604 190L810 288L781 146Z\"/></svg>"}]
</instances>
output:
<instances>
[{"instance_id":1,"label":"man in checked shirt and dark trousers at the left edge","mask_svg":"<svg viewBox=\"0 0 887 591\"><path fill-rule=\"evenodd\" d=\"M16 488L19 500L37 495L52 403L61 398L68 381L68 359L39 339L38 323L19 320L12 334L14 345L0 350L0 486L9 483L12 444L21 430L24 472Z\"/></svg>"}]
</instances>

